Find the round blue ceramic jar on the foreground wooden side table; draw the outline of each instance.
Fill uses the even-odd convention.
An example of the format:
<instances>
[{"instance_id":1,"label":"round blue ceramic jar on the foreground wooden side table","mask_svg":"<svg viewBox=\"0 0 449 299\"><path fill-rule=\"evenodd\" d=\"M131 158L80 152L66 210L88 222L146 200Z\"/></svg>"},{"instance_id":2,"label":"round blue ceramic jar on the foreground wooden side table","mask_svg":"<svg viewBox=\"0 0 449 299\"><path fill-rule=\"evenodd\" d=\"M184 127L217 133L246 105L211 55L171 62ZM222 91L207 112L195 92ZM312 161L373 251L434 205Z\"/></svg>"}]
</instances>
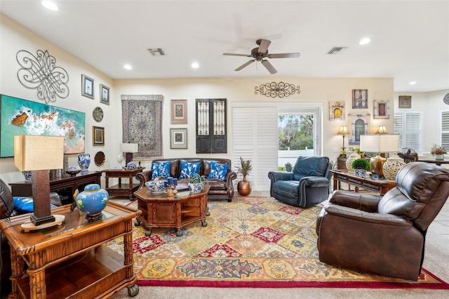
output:
<instances>
[{"instance_id":1,"label":"round blue ceramic jar on the foreground wooden side table","mask_svg":"<svg viewBox=\"0 0 449 299\"><path fill-rule=\"evenodd\" d=\"M90 184L76 197L76 206L88 219L101 218L102 211L109 201L109 193L98 184Z\"/></svg>"}]
</instances>

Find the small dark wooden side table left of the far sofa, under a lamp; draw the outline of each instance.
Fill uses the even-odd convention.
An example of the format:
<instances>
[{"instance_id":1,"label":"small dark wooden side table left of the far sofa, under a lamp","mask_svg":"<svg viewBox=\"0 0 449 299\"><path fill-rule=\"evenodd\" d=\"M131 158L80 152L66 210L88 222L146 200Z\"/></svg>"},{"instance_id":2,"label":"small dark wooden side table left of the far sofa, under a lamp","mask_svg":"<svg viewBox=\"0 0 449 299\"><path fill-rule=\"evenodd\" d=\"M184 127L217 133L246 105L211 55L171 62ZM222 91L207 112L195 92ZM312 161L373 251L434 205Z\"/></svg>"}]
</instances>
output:
<instances>
[{"instance_id":1,"label":"small dark wooden side table left of the far sofa, under a lamp","mask_svg":"<svg viewBox=\"0 0 449 299\"><path fill-rule=\"evenodd\" d=\"M138 190L139 184L133 182L133 178L136 174L141 173L145 167L135 168L132 171L125 169L107 169L103 171L105 173L105 184L106 190L109 192L110 196L119 197L129 197L130 200L133 199L133 192ZM114 186L109 186L109 178L119 178L119 184ZM128 178L129 183L121 182L122 178Z\"/></svg>"}]
</instances>

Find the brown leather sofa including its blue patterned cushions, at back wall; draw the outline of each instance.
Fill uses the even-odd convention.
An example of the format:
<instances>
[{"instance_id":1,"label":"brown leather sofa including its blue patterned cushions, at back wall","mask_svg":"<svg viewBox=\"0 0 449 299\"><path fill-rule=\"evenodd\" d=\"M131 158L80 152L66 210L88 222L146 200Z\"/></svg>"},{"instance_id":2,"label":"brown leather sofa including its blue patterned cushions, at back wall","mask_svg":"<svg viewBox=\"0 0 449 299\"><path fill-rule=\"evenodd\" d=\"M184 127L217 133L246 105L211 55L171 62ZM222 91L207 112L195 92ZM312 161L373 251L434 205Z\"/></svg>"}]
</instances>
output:
<instances>
[{"instance_id":1,"label":"brown leather sofa including its blue patterned cushions, at back wall","mask_svg":"<svg viewBox=\"0 0 449 299\"><path fill-rule=\"evenodd\" d=\"M153 179L153 172L160 171L160 167L155 167L155 164L163 164L164 162L169 162L169 171L172 178L177 178L179 182L188 182L188 178L185 176L190 173L186 173L189 170L192 171L194 166L198 167L199 175L204 175L207 178L208 184L210 186L208 191L209 199L227 199L227 201L232 201L234 198L234 183L233 180L237 178L237 173L232 171L231 160L230 159L209 159L209 158L177 158L177 159L155 159L152 161L152 170L143 171L138 173L135 178L140 181L140 187L145 188L145 182ZM217 166L227 166L222 172L214 172L214 164ZM188 166L188 169L182 166ZM211 167L212 165L212 167ZM212 175L213 174L213 175ZM215 175L216 174L216 175ZM161 173L162 177L167 177L166 173ZM214 178L210 178L214 176ZM184 177L184 178L182 178Z\"/></svg>"}]
</instances>

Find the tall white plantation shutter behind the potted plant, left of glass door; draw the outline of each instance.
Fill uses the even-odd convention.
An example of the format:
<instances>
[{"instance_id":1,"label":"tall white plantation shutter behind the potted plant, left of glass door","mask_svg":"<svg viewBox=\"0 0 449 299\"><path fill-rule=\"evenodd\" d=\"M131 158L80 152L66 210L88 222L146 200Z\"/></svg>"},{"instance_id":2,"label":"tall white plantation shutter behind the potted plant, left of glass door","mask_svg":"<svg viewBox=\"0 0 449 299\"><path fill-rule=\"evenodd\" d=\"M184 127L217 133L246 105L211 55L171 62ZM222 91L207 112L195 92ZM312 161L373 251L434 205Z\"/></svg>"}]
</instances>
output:
<instances>
[{"instance_id":1,"label":"tall white plantation shutter behind the potted plant, left of glass door","mask_svg":"<svg viewBox=\"0 0 449 299\"><path fill-rule=\"evenodd\" d=\"M276 107L233 107L233 168L240 166L240 157L251 159L253 170L247 180L253 190L269 191L268 172L277 169L277 109ZM243 176L239 176L235 183Z\"/></svg>"}]
</instances>

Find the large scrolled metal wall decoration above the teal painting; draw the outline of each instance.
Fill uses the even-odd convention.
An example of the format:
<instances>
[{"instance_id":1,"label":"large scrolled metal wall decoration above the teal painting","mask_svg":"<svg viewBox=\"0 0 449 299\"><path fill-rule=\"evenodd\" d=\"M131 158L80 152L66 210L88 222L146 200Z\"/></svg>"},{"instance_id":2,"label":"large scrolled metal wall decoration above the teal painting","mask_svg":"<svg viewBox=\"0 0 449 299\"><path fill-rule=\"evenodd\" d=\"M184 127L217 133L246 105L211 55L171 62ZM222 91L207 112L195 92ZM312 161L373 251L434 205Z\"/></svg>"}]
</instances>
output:
<instances>
[{"instance_id":1,"label":"large scrolled metal wall decoration above the teal painting","mask_svg":"<svg viewBox=\"0 0 449 299\"><path fill-rule=\"evenodd\" d=\"M17 62L22 67L17 72L20 83L29 89L37 89L39 100L55 102L56 96L69 96L69 74L56 67L56 59L48 51L38 50L36 56L28 51L18 51Z\"/></svg>"}]
</instances>

